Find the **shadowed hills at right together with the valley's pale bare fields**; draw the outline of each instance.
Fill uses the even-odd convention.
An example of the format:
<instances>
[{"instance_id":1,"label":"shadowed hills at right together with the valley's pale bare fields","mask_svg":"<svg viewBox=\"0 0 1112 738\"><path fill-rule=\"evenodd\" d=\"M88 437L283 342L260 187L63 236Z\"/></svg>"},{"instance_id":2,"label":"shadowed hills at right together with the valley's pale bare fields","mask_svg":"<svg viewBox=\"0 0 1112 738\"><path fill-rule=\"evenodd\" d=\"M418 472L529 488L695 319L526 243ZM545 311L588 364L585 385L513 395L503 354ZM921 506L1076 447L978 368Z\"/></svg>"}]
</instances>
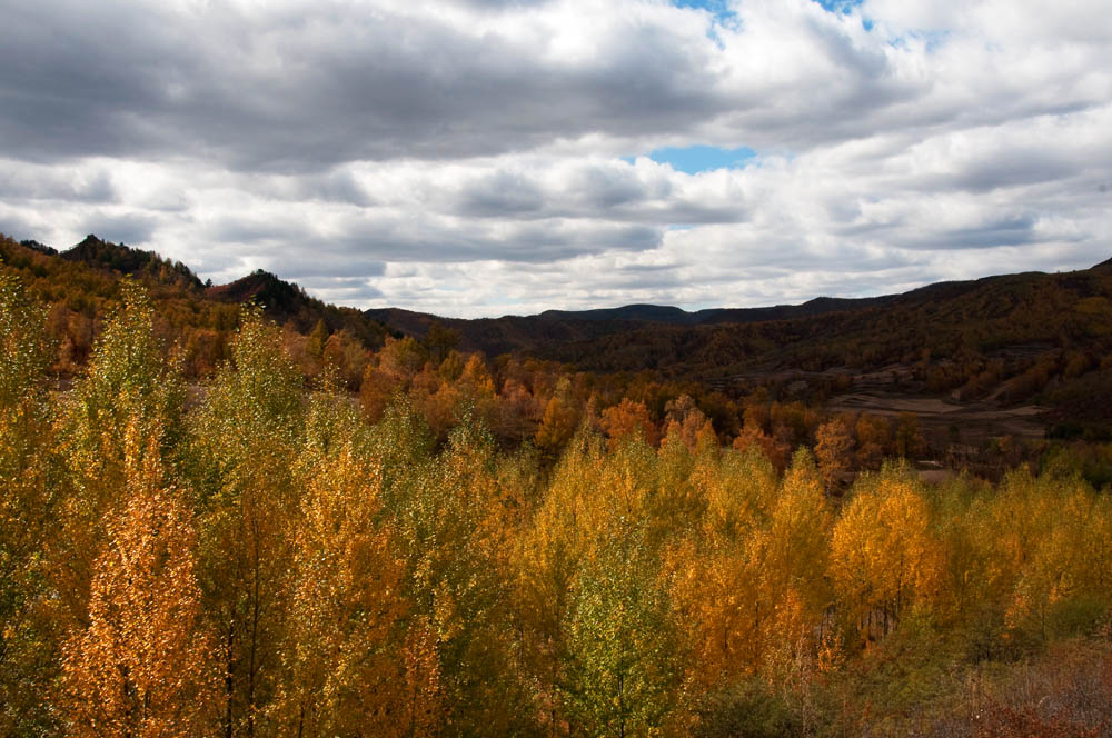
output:
<instances>
[{"instance_id":1,"label":"shadowed hills at right together with the valley's pale bare fields","mask_svg":"<svg viewBox=\"0 0 1112 738\"><path fill-rule=\"evenodd\" d=\"M1112 260L865 299L713 309L632 305L497 319L368 315L411 336L582 371L694 382L851 415L914 416L936 448L1002 436L1112 438Z\"/></svg>"}]
</instances>

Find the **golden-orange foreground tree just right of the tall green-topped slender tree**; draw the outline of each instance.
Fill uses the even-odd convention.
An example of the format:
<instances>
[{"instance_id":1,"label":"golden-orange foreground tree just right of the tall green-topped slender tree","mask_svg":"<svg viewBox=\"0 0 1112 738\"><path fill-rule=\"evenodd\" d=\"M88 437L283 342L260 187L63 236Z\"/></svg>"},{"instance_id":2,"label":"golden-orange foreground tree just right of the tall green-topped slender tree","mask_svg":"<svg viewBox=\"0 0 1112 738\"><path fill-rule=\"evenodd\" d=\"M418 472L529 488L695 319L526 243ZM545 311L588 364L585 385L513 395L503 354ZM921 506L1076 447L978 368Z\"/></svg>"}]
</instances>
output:
<instances>
[{"instance_id":1,"label":"golden-orange foreground tree just right of the tall green-topped slender tree","mask_svg":"<svg viewBox=\"0 0 1112 738\"><path fill-rule=\"evenodd\" d=\"M413 735L430 706L411 700L406 684L427 684L429 671L436 679L436 664L404 662L407 602L401 561L378 522L378 468L360 452L358 418L342 397L318 392L307 426L294 470L304 495L276 727L307 737Z\"/></svg>"}]
</instances>

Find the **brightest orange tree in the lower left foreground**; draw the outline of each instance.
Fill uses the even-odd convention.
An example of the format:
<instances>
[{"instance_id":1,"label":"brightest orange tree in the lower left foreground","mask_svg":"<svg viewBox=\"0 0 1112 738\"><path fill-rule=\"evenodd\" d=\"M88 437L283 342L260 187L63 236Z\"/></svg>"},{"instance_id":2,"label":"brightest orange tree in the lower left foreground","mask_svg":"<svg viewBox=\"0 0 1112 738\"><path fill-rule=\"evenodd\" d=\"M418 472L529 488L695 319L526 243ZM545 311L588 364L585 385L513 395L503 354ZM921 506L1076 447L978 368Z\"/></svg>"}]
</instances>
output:
<instances>
[{"instance_id":1,"label":"brightest orange tree in the lower left foreground","mask_svg":"<svg viewBox=\"0 0 1112 738\"><path fill-rule=\"evenodd\" d=\"M209 735L218 716L219 668L202 624L190 513L162 478L158 433L140 422L128 429L127 503L106 525L89 625L63 649L75 736Z\"/></svg>"}]
</instances>

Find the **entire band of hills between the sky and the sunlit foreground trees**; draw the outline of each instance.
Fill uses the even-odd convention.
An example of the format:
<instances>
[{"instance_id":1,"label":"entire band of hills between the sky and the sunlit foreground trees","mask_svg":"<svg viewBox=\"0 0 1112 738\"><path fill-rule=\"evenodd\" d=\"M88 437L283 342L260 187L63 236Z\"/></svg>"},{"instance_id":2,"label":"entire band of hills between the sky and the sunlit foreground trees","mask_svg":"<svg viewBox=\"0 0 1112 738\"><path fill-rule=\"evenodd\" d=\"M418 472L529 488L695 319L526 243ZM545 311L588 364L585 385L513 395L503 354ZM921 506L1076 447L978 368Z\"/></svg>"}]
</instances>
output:
<instances>
[{"instance_id":1,"label":"entire band of hills between the sky and the sunlit foreground trees","mask_svg":"<svg viewBox=\"0 0 1112 738\"><path fill-rule=\"evenodd\" d=\"M53 306L50 330L61 347L62 373L86 361L120 280L131 275L151 291L159 333L183 348L187 372L196 376L227 359L239 306L256 302L300 336L296 350L309 356L309 365L336 336L330 356L347 357L340 363L353 387L366 362L358 353L390 335L420 342L436 329L428 357L444 356L431 342L447 337L459 350L488 358L508 353L599 375L647 372L733 398L764 388L773 398L847 411L914 411L940 433L954 423L989 435L1041 436L1044 427L1098 438L1110 432L1112 407L1102 398L1112 397L1112 260L1074 272L940 282L902 295L820 297L796 306L689 312L631 305L464 320L326 305L261 270L206 287L186 265L95 236L62 252L3 238L0 259ZM937 411L916 410L909 398ZM994 415L1001 411L1022 411L1022 422Z\"/></svg>"}]
</instances>

